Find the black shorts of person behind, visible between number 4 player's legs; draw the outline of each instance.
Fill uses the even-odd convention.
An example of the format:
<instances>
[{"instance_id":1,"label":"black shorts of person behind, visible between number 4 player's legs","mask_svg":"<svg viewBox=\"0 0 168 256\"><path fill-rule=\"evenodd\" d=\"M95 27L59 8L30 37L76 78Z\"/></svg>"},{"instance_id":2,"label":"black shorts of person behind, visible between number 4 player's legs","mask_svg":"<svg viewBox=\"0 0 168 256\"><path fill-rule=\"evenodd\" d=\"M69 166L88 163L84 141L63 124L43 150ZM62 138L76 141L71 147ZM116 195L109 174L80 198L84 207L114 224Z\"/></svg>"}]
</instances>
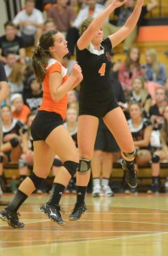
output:
<instances>
[{"instance_id":1,"label":"black shorts of person behind, visible between number 4 player's legs","mask_svg":"<svg viewBox=\"0 0 168 256\"><path fill-rule=\"evenodd\" d=\"M120 152L115 137L108 129L98 129L94 150L101 150L108 153Z\"/></svg>"}]
</instances>

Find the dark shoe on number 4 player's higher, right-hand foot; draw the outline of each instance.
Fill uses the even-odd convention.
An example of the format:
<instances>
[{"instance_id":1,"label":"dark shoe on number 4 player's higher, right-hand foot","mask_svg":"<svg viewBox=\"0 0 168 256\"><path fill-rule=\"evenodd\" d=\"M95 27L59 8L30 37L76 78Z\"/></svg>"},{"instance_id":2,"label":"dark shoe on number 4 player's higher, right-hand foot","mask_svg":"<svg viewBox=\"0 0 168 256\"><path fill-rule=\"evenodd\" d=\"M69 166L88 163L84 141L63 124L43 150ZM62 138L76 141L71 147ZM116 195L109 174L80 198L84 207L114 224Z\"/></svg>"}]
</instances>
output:
<instances>
[{"instance_id":1,"label":"dark shoe on number 4 player's higher, right-hand foot","mask_svg":"<svg viewBox=\"0 0 168 256\"><path fill-rule=\"evenodd\" d=\"M137 172L134 169L134 165L132 165L131 169L128 169L126 166L126 160L121 161L122 169L126 172L126 183L130 186L130 188L134 189L137 187Z\"/></svg>"}]
</instances>

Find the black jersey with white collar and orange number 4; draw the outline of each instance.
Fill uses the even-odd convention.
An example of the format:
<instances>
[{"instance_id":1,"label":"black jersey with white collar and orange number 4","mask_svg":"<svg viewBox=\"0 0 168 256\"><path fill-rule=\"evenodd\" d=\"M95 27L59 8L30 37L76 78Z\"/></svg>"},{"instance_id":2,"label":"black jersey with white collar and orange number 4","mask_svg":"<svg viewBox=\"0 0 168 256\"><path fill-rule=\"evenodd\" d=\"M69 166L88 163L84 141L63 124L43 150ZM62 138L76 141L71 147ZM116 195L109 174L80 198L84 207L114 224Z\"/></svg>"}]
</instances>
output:
<instances>
[{"instance_id":1,"label":"black jersey with white collar and orange number 4","mask_svg":"<svg viewBox=\"0 0 168 256\"><path fill-rule=\"evenodd\" d=\"M76 61L81 66L83 74L81 93L92 94L96 91L110 90L111 49L109 38L103 40L100 50L94 49L92 44L82 50L76 46Z\"/></svg>"}]
</instances>

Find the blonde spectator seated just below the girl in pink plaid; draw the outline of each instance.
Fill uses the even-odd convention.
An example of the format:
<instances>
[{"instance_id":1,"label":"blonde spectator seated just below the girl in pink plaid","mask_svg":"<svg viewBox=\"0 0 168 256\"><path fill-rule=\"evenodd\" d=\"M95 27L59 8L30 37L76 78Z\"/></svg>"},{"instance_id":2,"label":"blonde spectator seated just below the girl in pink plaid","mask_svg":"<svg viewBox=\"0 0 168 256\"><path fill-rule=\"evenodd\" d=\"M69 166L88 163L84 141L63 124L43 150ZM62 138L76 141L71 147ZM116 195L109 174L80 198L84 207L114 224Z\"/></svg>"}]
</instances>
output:
<instances>
[{"instance_id":1,"label":"blonde spectator seated just below the girl in pink plaid","mask_svg":"<svg viewBox=\"0 0 168 256\"><path fill-rule=\"evenodd\" d=\"M132 82L132 91L129 102L137 102L143 109L143 116L149 116L149 108L152 104L151 96L148 90L144 88L144 80L142 77L136 77Z\"/></svg>"}]
</instances>

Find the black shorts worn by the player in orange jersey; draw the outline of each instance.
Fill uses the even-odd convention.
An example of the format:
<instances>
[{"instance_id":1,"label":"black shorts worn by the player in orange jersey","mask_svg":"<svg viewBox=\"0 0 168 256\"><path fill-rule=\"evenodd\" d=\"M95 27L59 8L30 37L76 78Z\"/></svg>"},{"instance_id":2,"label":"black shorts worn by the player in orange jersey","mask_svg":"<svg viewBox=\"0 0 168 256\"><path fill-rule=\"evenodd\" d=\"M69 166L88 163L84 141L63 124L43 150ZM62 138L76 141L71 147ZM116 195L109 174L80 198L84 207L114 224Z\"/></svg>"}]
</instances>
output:
<instances>
[{"instance_id":1,"label":"black shorts worn by the player in orange jersey","mask_svg":"<svg viewBox=\"0 0 168 256\"><path fill-rule=\"evenodd\" d=\"M32 121L31 137L34 141L45 141L51 131L59 125L63 125L59 113L40 110Z\"/></svg>"}]
</instances>

